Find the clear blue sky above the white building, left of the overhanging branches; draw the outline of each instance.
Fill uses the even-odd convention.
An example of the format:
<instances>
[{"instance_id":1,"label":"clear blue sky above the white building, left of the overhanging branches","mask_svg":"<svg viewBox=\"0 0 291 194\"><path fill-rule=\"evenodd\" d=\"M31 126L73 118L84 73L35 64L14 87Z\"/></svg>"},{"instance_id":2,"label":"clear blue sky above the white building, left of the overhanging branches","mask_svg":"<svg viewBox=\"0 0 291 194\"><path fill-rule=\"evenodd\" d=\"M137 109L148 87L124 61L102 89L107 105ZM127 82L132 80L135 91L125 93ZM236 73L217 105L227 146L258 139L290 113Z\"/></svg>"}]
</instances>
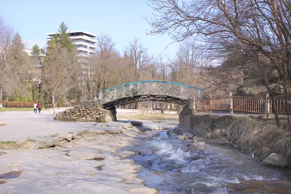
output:
<instances>
[{"instance_id":1,"label":"clear blue sky above the white building, left of the overhanging branches","mask_svg":"<svg viewBox=\"0 0 291 194\"><path fill-rule=\"evenodd\" d=\"M46 33L56 32L62 21L70 30L108 34L120 53L133 37L155 56L162 53L172 58L178 46L174 43L165 49L172 42L167 35L146 35L150 26L143 16L153 12L146 0L2 0L0 4L0 16L19 32L27 48L45 46Z\"/></svg>"}]
</instances>

